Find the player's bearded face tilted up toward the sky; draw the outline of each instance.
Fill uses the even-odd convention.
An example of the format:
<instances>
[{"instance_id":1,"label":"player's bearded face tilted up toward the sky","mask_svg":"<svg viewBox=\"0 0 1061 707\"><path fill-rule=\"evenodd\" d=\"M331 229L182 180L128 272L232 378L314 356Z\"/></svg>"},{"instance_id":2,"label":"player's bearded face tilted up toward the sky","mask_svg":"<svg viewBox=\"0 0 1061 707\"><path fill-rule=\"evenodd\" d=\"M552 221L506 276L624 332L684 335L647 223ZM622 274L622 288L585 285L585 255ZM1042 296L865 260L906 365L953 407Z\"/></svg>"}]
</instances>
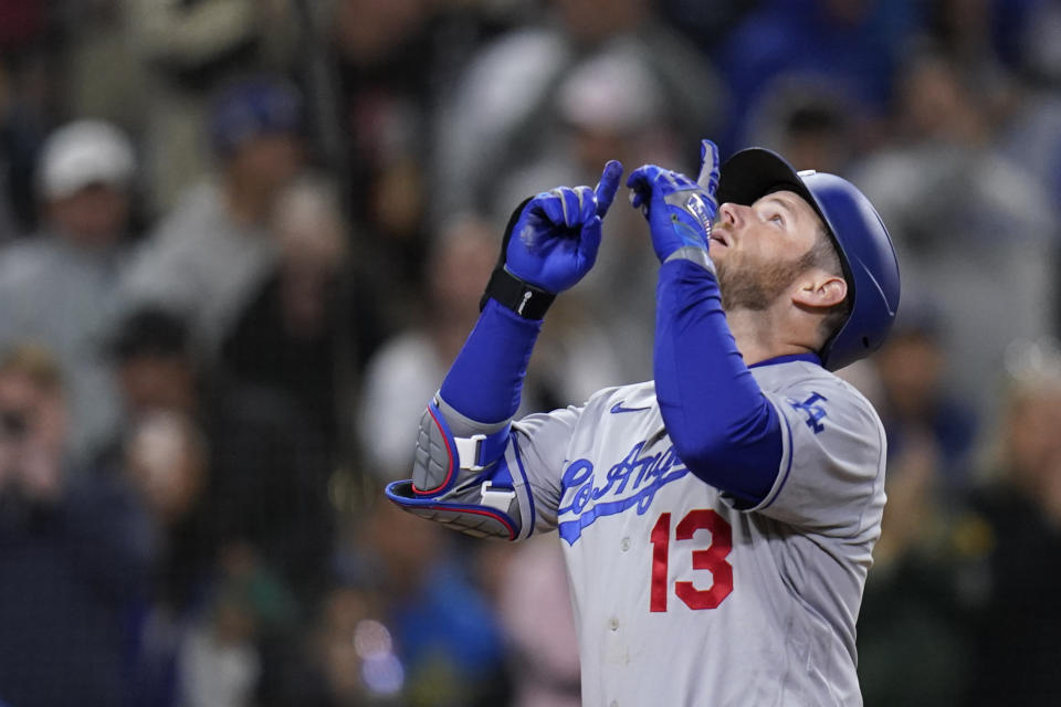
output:
<instances>
[{"instance_id":1,"label":"player's bearded face tilted up toward the sky","mask_svg":"<svg viewBox=\"0 0 1061 707\"><path fill-rule=\"evenodd\" d=\"M803 272L803 255L823 225L810 204L776 191L749 207L724 203L711 235L711 260L726 309L763 310Z\"/></svg>"}]
</instances>

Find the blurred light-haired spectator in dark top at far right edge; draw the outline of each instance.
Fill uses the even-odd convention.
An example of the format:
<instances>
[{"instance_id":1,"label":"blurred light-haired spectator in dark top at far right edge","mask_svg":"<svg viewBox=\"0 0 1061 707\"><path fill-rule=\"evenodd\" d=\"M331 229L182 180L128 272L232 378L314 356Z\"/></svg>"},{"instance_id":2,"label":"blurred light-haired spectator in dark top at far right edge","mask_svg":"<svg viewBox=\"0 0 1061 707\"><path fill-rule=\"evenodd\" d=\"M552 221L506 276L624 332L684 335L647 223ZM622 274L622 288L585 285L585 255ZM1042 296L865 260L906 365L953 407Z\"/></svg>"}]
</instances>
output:
<instances>
[{"instance_id":1,"label":"blurred light-haired spectator in dark top at far right edge","mask_svg":"<svg viewBox=\"0 0 1061 707\"><path fill-rule=\"evenodd\" d=\"M974 499L983 595L965 705L1061 701L1061 354L1015 345L998 425L996 475Z\"/></svg>"}]
</instances>

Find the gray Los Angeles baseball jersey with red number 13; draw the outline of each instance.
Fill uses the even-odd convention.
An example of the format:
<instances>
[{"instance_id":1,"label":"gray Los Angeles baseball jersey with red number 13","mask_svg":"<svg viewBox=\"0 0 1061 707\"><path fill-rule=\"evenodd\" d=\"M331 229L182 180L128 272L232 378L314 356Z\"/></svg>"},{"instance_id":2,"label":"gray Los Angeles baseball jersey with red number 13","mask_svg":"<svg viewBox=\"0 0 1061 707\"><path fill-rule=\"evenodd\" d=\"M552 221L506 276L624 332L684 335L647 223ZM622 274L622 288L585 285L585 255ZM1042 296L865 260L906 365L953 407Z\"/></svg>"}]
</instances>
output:
<instances>
[{"instance_id":1,"label":"gray Los Angeles baseball jersey with red number 13","mask_svg":"<svg viewBox=\"0 0 1061 707\"><path fill-rule=\"evenodd\" d=\"M685 468L651 382L513 425L521 503L564 547L586 705L862 701L855 620L884 507L883 428L813 363L752 371L784 435L753 508Z\"/></svg>"}]
</instances>

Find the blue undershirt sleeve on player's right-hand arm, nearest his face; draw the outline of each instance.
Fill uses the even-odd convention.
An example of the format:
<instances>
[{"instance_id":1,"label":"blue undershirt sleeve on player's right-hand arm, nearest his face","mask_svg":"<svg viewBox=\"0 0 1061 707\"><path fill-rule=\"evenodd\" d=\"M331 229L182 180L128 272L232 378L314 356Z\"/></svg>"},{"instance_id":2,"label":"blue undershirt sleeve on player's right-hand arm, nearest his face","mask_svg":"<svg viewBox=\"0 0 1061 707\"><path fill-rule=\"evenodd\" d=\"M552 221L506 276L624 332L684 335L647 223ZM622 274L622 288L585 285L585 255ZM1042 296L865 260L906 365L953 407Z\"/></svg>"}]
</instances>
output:
<instances>
[{"instance_id":1,"label":"blue undershirt sleeve on player's right-hand arm, nearest his face","mask_svg":"<svg viewBox=\"0 0 1061 707\"><path fill-rule=\"evenodd\" d=\"M655 395L679 457L742 505L758 504L780 466L781 422L737 350L715 275L664 263L655 302Z\"/></svg>"}]
</instances>

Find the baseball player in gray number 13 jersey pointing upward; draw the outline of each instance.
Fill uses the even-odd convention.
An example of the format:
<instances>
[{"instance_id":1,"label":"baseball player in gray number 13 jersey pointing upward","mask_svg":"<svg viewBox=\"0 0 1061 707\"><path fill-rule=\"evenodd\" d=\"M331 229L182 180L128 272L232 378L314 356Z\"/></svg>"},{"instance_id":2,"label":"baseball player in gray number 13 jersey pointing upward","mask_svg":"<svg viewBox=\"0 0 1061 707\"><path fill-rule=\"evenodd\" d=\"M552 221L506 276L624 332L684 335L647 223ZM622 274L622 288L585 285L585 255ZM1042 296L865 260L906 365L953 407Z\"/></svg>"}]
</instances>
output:
<instances>
[{"instance_id":1,"label":"baseball player in gray number 13 jersey pointing upward","mask_svg":"<svg viewBox=\"0 0 1061 707\"><path fill-rule=\"evenodd\" d=\"M557 530L587 705L857 705L884 506L876 412L832 374L881 345L899 267L865 197L765 149L630 175L661 266L654 381L512 418L546 308L592 266L622 168L521 204L420 423L411 513ZM721 205L719 205L721 204Z\"/></svg>"}]
</instances>

